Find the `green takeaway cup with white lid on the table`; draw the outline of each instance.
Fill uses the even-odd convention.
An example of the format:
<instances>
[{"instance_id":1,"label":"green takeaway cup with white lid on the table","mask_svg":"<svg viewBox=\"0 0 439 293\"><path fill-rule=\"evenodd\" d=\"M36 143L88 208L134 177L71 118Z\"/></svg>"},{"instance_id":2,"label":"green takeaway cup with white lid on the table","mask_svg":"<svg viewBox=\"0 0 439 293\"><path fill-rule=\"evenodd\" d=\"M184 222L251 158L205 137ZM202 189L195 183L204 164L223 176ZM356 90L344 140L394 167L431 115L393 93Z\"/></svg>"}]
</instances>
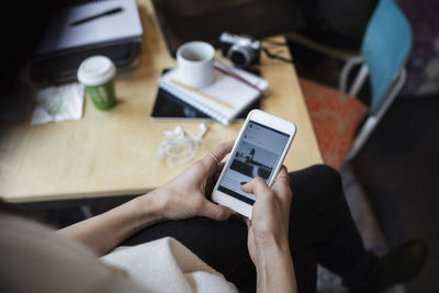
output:
<instances>
[{"instance_id":1,"label":"green takeaway cup with white lid on the table","mask_svg":"<svg viewBox=\"0 0 439 293\"><path fill-rule=\"evenodd\" d=\"M78 80L86 86L94 106L108 110L116 104L114 97L114 76L116 68L105 56L92 56L81 63Z\"/></svg>"}]
</instances>

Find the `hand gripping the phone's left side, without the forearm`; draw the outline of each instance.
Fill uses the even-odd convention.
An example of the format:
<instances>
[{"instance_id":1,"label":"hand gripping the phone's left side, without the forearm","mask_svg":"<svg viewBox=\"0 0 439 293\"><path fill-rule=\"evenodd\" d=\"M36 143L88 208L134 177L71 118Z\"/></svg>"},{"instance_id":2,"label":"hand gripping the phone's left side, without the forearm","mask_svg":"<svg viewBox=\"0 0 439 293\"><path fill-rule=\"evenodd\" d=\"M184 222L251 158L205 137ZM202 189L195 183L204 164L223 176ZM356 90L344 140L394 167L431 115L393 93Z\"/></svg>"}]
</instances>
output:
<instances>
[{"instance_id":1,"label":"hand gripping the phone's left side, without the forearm","mask_svg":"<svg viewBox=\"0 0 439 293\"><path fill-rule=\"evenodd\" d=\"M205 216L217 221L228 219L235 214L230 209L206 199L212 193L214 181L223 165L218 165L230 153L234 142L216 146L211 154L193 162L181 174L154 191L162 219L182 219ZM215 158L217 161L215 160ZM147 194L148 196L149 194Z\"/></svg>"}]
</instances>

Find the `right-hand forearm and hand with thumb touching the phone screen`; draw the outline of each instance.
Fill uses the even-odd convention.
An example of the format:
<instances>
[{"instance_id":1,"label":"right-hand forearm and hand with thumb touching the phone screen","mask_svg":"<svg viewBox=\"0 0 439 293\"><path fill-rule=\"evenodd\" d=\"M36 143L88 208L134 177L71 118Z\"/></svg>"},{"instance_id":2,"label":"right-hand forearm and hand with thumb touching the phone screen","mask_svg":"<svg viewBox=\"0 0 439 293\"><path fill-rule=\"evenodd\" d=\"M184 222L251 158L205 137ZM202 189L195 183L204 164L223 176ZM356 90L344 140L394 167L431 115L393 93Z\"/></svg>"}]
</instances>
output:
<instances>
[{"instance_id":1,"label":"right-hand forearm and hand with thumb touching the phone screen","mask_svg":"<svg viewBox=\"0 0 439 293\"><path fill-rule=\"evenodd\" d=\"M297 292L289 244L293 192L283 166L271 188L258 177L241 190L256 195L248 226L248 251L257 271L257 292Z\"/></svg>"}]
</instances>

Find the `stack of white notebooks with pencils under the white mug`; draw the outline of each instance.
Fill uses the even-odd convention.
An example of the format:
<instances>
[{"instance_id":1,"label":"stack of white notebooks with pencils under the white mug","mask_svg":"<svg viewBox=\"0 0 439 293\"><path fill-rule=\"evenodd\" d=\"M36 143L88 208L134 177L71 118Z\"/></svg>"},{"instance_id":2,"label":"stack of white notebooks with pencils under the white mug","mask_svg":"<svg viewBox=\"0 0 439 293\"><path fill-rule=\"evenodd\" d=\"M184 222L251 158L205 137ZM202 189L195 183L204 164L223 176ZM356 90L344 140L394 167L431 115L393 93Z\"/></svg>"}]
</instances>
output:
<instances>
[{"instance_id":1,"label":"stack of white notebooks with pencils under the white mug","mask_svg":"<svg viewBox=\"0 0 439 293\"><path fill-rule=\"evenodd\" d=\"M218 61L215 80L205 88L194 89L179 81L178 68L164 74L158 86L159 92L165 91L224 125L255 105L269 88L267 80Z\"/></svg>"}]
</instances>

